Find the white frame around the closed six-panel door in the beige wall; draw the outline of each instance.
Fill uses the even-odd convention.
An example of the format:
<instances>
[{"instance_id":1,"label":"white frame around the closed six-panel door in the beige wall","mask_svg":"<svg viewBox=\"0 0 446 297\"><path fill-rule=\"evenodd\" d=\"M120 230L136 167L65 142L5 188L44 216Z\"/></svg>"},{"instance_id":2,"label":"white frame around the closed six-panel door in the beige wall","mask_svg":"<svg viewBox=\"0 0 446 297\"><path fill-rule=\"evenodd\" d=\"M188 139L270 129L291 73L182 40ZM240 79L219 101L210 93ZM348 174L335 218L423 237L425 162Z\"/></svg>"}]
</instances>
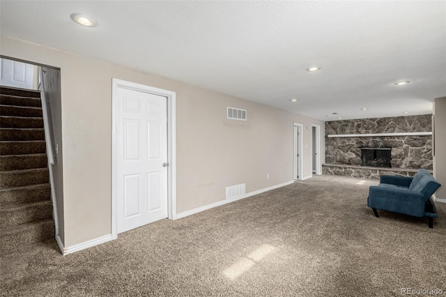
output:
<instances>
[{"instance_id":1,"label":"white frame around the closed six-panel door in the beige wall","mask_svg":"<svg viewBox=\"0 0 446 297\"><path fill-rule=\"evenodd\" d=\"M176 219L176 93L153 86L127 82L122 79L112 79L112 238L118 238L118 197L117 183L117 139L116 139L116 104L118 88L131 89L144 93L153 93L167 97L167 215L170 220Z\"/></svg>"}]
</instances>

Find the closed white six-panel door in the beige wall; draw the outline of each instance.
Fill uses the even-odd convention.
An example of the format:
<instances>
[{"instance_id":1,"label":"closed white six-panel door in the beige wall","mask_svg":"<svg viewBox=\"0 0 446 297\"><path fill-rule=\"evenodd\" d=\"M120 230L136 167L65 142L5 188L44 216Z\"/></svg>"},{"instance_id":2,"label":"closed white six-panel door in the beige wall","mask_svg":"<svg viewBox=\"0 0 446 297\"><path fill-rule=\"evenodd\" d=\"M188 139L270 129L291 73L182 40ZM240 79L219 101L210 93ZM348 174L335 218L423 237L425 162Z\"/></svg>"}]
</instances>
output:
<instances>
[{"instance_id":1,"label":"closed white six-panel door in the beige wall","mask_svg":"<svg viewBox=\"0 0 446 297\"><path fill-rule=\"evenodd\" d=\"M118 88L118 233L167 218L167 98Z\"/></svg>"}]
</instances>

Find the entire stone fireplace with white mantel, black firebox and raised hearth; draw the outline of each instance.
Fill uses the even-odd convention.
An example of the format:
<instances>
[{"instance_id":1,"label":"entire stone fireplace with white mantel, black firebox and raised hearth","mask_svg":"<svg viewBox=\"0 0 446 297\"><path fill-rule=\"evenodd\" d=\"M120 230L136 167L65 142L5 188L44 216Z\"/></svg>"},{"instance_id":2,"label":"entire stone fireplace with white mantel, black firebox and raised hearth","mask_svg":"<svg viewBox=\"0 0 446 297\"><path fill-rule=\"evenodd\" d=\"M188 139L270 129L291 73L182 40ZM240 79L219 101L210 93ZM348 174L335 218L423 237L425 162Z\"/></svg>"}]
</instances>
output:
<instances>
[{"instance_id":1,"label":"entire stone fireplace with white mantel, black firebox and raised hearth","mask_svg":"<svg viewBox=\"0 0 446 297\"><path fill-rule=\"evenodd\" d=\"M325 122L324 174L379 178L431 170L431 114Z\"/></svg>"}]
</instances>

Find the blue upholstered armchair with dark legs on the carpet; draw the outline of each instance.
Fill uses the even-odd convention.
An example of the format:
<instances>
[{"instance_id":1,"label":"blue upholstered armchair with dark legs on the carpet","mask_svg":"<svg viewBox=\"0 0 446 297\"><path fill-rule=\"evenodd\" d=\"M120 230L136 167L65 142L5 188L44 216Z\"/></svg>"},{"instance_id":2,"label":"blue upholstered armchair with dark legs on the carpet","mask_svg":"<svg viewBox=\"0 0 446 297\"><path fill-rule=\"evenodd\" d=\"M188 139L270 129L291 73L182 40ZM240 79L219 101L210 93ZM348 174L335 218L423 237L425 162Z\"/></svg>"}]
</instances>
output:
<instances>
[{"instance_id":1,"label":"blue upholstered armchair with dark legs on the carpet","mask_svg":"<svg viewBox=\"0 0 446 297\"><path fill-rule=\"evenodd\" d=\"M378 209L405 213L415 217L429 218L429 228L433 227L433 218L438 218L431 196L440 183L426 170L420 169L413 177L380 176L379 185L369 188L367 205L378 216Z\"/></svg>"}]
</instances>

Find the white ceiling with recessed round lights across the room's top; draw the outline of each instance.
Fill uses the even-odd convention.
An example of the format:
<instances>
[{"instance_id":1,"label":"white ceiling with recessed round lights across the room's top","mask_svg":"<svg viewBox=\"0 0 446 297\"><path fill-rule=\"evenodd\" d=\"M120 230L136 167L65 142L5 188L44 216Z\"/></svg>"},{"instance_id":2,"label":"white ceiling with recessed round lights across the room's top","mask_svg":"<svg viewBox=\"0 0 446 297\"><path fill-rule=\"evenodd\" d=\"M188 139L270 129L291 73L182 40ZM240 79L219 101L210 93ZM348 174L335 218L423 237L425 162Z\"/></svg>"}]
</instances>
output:
<instances>
[{"instance_id":1,"label":"white ceiling with recessed round lights across the room's top","mask_svg":"<svg viewBox=\"0 0 446 297\"><path fill-rule=\"evenodd\" d=\"M0 9L4 36L322 121L429 114L433 98L446 96L445 1L1 1ZM79 26L71 13L99 26ZM305 70L315 65L322 69Z\"/></svg>"}]
</instances>

